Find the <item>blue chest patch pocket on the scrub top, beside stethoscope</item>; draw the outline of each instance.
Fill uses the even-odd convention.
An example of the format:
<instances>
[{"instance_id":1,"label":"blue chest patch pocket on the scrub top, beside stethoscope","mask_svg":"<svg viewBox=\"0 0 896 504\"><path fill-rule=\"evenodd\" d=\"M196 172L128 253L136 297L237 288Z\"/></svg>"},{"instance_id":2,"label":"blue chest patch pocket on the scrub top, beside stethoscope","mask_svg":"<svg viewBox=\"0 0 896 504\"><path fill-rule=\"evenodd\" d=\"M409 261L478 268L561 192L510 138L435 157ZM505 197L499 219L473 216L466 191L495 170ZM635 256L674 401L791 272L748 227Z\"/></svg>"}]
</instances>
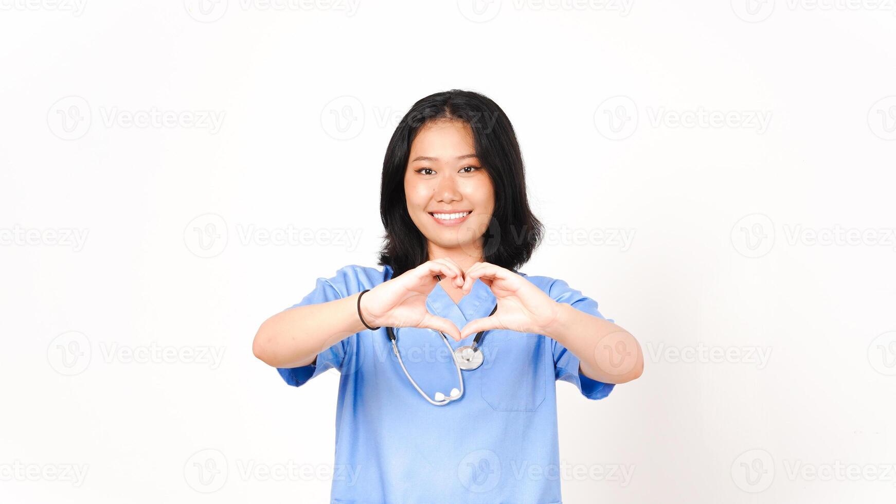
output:
<instances>
[{"instance_id":1,"label":"blue chest patch pocket on the scrub top, beside stethoscope","mask_svg":"<svg viewBox=\"0 0 896 504\"><path fill-rule=\"evenodd\" d=\"M548 346L540 334L506 331L486 335L483 352L491 346L479 382L482 398L495 411L535 411L545 400L544 355Z\"/></svg>"}]
</instances>

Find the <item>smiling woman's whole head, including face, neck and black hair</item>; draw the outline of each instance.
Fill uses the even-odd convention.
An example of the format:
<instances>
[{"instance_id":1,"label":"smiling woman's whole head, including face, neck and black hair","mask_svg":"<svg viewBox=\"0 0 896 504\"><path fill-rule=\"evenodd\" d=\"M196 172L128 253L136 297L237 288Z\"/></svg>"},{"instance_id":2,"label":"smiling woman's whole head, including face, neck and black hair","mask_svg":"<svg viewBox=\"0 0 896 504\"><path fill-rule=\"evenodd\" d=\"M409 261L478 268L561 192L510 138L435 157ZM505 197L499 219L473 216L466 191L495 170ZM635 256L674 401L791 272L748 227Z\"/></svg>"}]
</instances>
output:
<instances>
[{"instance_id":1,"label":"smiling woman's whole head, including face, neck and black hair","mask_svg":"<svg viewBox=\"0 0 896 504\"><path fill-rule=\"evenodd\" d=\"M470 215L444 218L461 212ZM513 125L493 100L471 91L430 95L401 120L383 161L380 214L380 264L396 276L434 257L464 269L477 261L518 269L543 235Z\"/></svg>"}]
</instances>

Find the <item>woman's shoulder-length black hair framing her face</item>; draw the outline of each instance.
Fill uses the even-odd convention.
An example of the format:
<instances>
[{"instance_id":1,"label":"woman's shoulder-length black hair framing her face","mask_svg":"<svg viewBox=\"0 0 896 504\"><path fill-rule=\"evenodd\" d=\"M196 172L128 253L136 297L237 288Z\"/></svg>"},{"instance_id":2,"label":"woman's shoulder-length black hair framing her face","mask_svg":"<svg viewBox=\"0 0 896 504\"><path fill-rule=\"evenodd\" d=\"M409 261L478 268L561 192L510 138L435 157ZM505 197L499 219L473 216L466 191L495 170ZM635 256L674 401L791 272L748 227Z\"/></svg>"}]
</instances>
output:
<instances>
[{"instance_id":1,"label":"woman's shoulder-length black hair framing her face","mask_svg":"<svg viewBox=\"0 0 896 504\"><path fill-rule=\"evenodd\" d=\"M385 236L379 264L392 278L426 262L426 236L408 215L404 176L410 145L424 125L438 120L470 124L476 156L495 188L495 210L484 233L483 257L515 271L530 260L544 226L529 207L520 144L510 119L491 98L474 91L448 90L418 100L392 133L383 159L380 217Z\"/></svg>"}]
</instances>

